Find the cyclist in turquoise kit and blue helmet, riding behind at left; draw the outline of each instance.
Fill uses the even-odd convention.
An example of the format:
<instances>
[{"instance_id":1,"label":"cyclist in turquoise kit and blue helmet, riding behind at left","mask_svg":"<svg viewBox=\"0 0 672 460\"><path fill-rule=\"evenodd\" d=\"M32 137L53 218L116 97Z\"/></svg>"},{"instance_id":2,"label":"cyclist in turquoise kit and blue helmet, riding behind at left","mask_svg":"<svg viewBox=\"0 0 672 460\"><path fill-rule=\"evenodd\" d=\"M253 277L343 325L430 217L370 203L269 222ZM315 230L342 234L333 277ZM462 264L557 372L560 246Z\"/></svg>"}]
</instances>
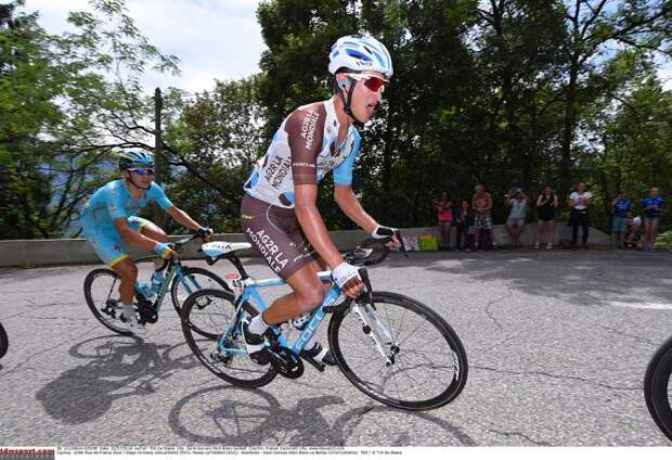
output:
<instances>
[{"instance_id":1,"label":"cyclist in turquoise kit and blue helmet, riding behind at left","mask_svg":"<svg viewBox=\"0 0 672 460\"><path fill-rule=\"evenodd\" d=\"M81 227L98 256L119 276L119 295L124 306L121 321L128 324L130 332L140 334L144 332L144 324L138 321L132 306L138 267L129 257L126 244L134 243L155 252L159 257L155 260L157 269L163 266L164 259L175 255L166 232L150 220L138 217L140 209L155 202L178 223L204 237L209 237L212 230L199 226L176 207L152 180L154 156L151 153L140 150L122 152L119 155L119 170L121 179L98 189L85 205ZM157 271L154 277L160 281L163 273Z\"/></svg>"}]
</instances>

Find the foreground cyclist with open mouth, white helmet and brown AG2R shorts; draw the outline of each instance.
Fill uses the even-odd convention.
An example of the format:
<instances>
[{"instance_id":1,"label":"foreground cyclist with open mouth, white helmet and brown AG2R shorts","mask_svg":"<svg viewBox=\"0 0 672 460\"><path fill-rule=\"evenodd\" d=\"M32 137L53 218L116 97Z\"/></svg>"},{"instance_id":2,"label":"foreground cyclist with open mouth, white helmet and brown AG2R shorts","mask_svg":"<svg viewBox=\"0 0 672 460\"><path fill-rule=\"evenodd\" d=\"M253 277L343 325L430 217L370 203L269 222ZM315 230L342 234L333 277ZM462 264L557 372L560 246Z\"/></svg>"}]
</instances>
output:
<instances>
[{"instance_id":1,"label":"foreground cyclist with open mouth, white helmet and brown AG2R shorts","mask_svg":"<svg viewBox=\"0 0 672 460\"><path fill-rule=\"evenodd\" d=\"M350 35L332 47L328 71L335 76L334 95L290 113L245 183L243 231L293 290L262 315L244 322L247 352L258 363L270 359L263 340L270 325L321 304L328 283L320 282L320 270L328 267L335 282L351 297L363 290L357 267L344 261L318 210L318 182L325 175L333 171L334 199L352 221L373 238L393 235L393 229L380 226L364 210L352 191L352 169L360 149L353 124L373 116L392 76L392 60L387 48L370 35ZM318 343L309 343L303 353L336 363Z\"/></svg>"}]
</instances>

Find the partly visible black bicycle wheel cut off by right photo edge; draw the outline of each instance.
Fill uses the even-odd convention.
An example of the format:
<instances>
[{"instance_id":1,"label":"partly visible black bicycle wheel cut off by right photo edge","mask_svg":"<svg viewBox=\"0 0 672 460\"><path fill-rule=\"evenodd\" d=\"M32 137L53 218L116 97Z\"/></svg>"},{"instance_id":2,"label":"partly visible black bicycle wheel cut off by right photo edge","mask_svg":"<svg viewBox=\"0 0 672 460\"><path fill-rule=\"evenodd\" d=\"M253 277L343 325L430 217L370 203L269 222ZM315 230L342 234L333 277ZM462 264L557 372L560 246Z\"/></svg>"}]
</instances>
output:
<instances>
[{"instance_id":1,"label":"partly visible black bicycle wheel cut off by right photo edge","mask_svg":"<svg viewBox=\"0 0 672 460\"><path fill-rule=\"evenodd\" d=\"M646 368L644 398L651 418L672 440L672 337L658 348Z\"/></svg>"}]
</instances>

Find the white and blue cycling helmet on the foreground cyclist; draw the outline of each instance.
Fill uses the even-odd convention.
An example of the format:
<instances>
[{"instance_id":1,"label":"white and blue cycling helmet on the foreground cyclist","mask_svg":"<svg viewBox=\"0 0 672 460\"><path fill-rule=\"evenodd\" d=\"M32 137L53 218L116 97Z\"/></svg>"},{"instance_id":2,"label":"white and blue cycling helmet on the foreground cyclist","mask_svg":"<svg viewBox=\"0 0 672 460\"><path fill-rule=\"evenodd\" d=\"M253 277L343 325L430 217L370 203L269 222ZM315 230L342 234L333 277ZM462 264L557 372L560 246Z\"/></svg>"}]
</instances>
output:
<instances>
[{"instance_id":1,"label":"white and blue cycling helmet on the foreground cyclist","mask_svg":"<svg viewBox=\"0 0 672 460\"><path fill-rule=\"evenodd\" d=\"M340 37L329 52L329 73L336 74L341 67L354 72L374 71L392 77L392 58L385 44L371 35L347 35Z\"/></svg>"}]
</instances>

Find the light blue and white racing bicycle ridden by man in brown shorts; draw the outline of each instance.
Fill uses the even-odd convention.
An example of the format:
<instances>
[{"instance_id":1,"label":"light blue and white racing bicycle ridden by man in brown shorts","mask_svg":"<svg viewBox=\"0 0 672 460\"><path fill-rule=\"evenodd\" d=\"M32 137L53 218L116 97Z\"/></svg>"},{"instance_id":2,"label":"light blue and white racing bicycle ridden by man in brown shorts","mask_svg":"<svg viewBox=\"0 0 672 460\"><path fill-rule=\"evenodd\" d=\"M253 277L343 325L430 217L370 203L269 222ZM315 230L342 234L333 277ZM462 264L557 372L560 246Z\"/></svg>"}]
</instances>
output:
<instances>
[{"instance_id":1,"label":"light blue and white racing bicycle ridden by man in brown shorts","mask_svg":"<svg viewBox=\"0 0 672 460\"><path fill-rule=\"evenodd\" d=\"M237 273L227 276L230 291L203 290L186 298L182 306L186 343L217 376L238 386L259 387L277 374L298 379L305 370L303 361L324 371L323 363L302 352L331 314L329 347L340 371L360 391L405 410L429 410L449 404L466 383L466 353L457 334L431 308L401 294L373 291L364 267L387 258L389 250L385 244L389 241L367 240L345 254L346 261L361 267L360 276L366 285L356 301L341 294L329 271L319 273L323 282L332 282L331 290L312 312L293 319L292 325L269 329L266 341L271 361L267 366L253 362L247 355L241 322L267 308L261 289L285 282L255 280L246 272L235 253L250 247L248 243L204 244L209 264L228 259ZM196 335L195 330L219 332Z\"/></svg>"}]
</instances>

